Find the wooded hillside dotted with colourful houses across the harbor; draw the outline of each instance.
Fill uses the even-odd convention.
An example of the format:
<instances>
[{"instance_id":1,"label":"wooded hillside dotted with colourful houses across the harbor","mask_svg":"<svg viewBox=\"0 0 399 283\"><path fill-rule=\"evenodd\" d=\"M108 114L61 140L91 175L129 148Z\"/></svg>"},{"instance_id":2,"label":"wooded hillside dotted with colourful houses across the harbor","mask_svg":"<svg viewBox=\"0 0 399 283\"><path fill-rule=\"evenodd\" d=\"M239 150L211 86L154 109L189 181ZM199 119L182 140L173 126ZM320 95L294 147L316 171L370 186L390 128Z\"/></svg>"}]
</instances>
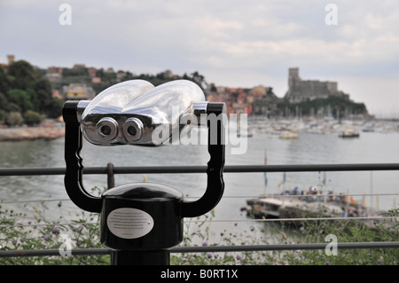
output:
<instances>
[{"instance_id":1,"label":"wooded hillside dotted with colourful houses across the harbor","mask_svg":"<svg viewBox=\"0 0 399 283\"><path fill-rule=\"evenodd\" d=\"M292 72L292 70L290 71ZM157 86L176 79L197 83L208 101L225 102L229 113L257 114L268 117L324 116L335 118L349 115L368 116L364 103L355 103L349 95L325 98L304 98L300 101L278 98L272 87L254 86L252 89L229 88L207 83L199 72L174 75L166 70L156 75L135 75L113 68L94 68L76 64L68 67L33 67L27 61L0 66L0 124L10 126L40 123L43 118L57 118L66 99L94 98L109 86L127 80L143 79ZM306 83L306 82L305 82ZM79 90L68 88L80 87ZM90 90L90 91L89 91ZM70 93L68 93L70 91ZM82 91L83 93L77 93ZM89 91L90 94L84 93Z\"/></svg>"}]
</instances>

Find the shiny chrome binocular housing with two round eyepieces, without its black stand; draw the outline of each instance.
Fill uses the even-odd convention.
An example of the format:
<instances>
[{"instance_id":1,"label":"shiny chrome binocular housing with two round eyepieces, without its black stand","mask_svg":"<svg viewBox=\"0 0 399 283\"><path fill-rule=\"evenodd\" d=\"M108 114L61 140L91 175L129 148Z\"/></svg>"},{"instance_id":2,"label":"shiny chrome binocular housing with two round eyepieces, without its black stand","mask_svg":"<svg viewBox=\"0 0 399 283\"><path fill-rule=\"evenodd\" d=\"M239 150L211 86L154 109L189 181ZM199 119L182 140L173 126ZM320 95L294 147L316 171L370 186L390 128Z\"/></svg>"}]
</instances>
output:
<instances>
[{"instance_id":1,"label":"shiny chrome binocular housing with two round eyepieces, without its black stand","mask_svg":"<svg viewBox=\"0 0 399 283\"><path fill-rule=\"evenodd\" d=\"M117 83L77 106L82 133L94 145L164 145L201 124L206 113L203 91L186 80L157 87L144 80Z\"/></svg>"}]
</instances>

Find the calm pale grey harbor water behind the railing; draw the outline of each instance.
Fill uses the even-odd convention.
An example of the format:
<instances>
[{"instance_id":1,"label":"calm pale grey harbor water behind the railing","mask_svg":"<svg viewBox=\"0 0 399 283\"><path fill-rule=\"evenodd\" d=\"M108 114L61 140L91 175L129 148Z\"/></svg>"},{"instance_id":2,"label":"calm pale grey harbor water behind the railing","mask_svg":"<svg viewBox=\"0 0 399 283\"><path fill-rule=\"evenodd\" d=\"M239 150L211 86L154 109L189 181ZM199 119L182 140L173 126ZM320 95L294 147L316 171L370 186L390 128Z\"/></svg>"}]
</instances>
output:
<instances>
[{"instance_id":1,"label":"calm pale grey harbor water behind the railing","mask_svg":"<svg viewBox=\"0 0 399 283\"><path fill-rule=\"evenodd\" d=\"M399 132L361 132L359 138L339 138L337 132L315 134L306 130L298 132L298 138L282 139L278 134L255 129L262 122L253 122L254 135L247 138L244 154L233 154L232 145L226 145L226 165L277 164L348 164L348 163L397 163L399 162ZM65 167L64 138L2 142L0 168L53 168ZM108 162L119 166L191 166L207 165L207 145L165 145L161 147L95 146L84 142L83 165L105 167ZM33 215L33 205L41 200L49 208L49 218L74 215L79 211L68 201L63 176L0 177L0 205L2 209L14 209ZM267 185L263 173L224 173L223 199L215 208L214 225L219 229L240 229L246 213L246 200L263 193L283 193L294 187L307 191L318 185L325 192L349 193L361 201L366 195L369 207L391 209L399 193L397 171L349 171L349 172L278 172L267 173ZM195 200L206 189L206 174L130 174L115 175L115 185L131 182L161 183L175 187L185 198ZM83 185L106 186L106 176L85 175ZM379 194L377 196L377 194ZM32 201L35 200L35 201ZM59 208L59 200L62 206ZM27 202L28 201L28 202ZM224 229L223 228L223 229ZM245 228L242 228L245 229Z\"/></svg>"}]
</instances>

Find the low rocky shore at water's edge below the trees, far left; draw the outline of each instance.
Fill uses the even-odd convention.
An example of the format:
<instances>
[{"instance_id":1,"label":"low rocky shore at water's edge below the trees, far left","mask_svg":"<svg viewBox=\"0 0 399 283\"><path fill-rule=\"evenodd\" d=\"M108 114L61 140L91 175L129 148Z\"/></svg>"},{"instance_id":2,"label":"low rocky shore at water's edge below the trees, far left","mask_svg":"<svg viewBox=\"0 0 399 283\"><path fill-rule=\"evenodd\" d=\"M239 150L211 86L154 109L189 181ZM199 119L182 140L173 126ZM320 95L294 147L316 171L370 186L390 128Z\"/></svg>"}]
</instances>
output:
<instances>
[{"instance_id":1,"label":"low rocky shore at water's edge below the trees, far left","mask_svg":"<svg viewBox=\"0 0 399 283\"><path fill-rule=\"evenodd\" d=\"M0 129L1 141L20 141L34 139L54 139L65 136L63 127L28 127Z\"/></svg>"}]
</instances>

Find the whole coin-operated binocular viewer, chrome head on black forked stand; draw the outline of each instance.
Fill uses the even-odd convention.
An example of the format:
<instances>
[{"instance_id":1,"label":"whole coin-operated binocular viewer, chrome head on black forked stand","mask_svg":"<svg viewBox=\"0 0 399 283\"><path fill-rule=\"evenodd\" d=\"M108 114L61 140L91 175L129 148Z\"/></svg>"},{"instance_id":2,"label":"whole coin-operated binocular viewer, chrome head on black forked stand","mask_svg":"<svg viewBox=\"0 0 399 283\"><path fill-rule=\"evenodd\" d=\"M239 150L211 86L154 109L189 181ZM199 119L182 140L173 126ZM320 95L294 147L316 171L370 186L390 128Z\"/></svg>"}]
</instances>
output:
<instances>
[{"instance_id":1,"label":"whole coin-operated binocular viewer, chrome head on black forked stand","mask_svg":"<svg viewBox=\"0 0 399 283\"><path fill-rule=\"evenodd\" d=\"M177 80L154 87L143 80L117 83L93 100L66 101L66 193L83 210L101 213L100 239L111 248L113 264L168 264L169 249L183 240L183 218L215 208L223 195L224 103L210 103L200 87ZM186 201L167 185L132 183L101 196L82 182L82 136L94 145L159 146L192 127L208 128L207 189ZM134 158L132 156L131 158ZM190 184L185 184L186 186Z\"/></svg>"}]
</instances>

